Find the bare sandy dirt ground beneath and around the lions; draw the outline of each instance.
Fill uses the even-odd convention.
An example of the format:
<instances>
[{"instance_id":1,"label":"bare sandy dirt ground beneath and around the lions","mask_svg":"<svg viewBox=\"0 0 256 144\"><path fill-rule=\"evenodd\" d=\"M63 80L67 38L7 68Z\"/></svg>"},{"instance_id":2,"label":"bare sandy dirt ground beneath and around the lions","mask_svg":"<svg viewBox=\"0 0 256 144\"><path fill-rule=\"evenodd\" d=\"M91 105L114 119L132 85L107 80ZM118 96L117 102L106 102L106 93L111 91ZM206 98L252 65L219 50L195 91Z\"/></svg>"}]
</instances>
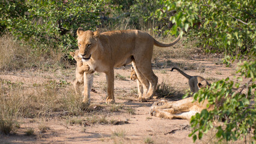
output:
<instances>
[{"instance_id":1,"label":"bare sandy dirt ground beneath and around the lions","mask_svg":"<svg viewBox=\"0 0 256 144\"><path fill-rule=\"evenodd\" d=\"M158 84L164 82L174 88L174 94L169 100L180 100L181 95L185 94L189 89L188 80L177 71L169 71L171 67L181 67L187 74L191 76L203 76L210 82L225 79L236 75L236 65L233 67L225 67L219 63L219 59L169 59L168 62L160 61L153 68L156 76L159 77ZM37 74L35 74L37 73ZM86 120L80 124L67 124L67 119L62 116L52 116L49 118L20 118L20 128L16 130L16 134L9 136L0 135L0 143L193 143L192 137L188 137L191 132L189 121L183 119L161 119L150 116L150 106L154 99L146 103L138 102L136 91L136 82L129 79L130 67L122 67L115 69L115 76L120 74L126 80L118 77L115 79L115 102L121 104L124 109L133 110L127 112L108 113L106 119L115 119L115 124L87 124ZM55 78L53 78L55 77ZM11 82L29 83L44 82L50 79L65 79L67 82L73 83L75 79L75 65L69 70L57 70L54 73L23 71L20 73L2 73L1 79L8 79ZM73 86L73 85L70 85ZM105 103L105 74L96 73L94 76L93 88L96 92L91 92L91 104L103 105L102 109L107 106ZM82 100L82 97L81 97ZM83 119L84 116L76 116L77 119ZM47 125L47 130L40 131L38 126ZM26 128L34 128L32 136L25 136ZM207 143L211 136L206 136L203 140L197 140L196 143Z\"/></svg>"}]
</instances>

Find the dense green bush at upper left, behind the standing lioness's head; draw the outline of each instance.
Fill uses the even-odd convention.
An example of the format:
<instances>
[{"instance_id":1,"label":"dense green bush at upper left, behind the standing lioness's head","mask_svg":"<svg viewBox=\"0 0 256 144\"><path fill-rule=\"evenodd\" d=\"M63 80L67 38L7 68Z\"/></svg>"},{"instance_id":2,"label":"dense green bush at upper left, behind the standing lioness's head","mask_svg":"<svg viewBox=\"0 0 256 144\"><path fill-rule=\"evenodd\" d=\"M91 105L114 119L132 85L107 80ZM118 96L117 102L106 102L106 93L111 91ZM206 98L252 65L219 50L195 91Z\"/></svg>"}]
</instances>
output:
<instances>
[{"instance_id":1,"label":"dense green bush at upper left, behind the standing lioness's head","mask_svg":"<svg viewBox=\"0 0 256 144\"><path fill-rule=\"evenodd\" d=\"M75 49L76 29L94 29L108 1L1 1L1 32L29 41L34 49L53 44L56 49ZM35 44L36 43L36 44Z\"/></svg>"}]
</instances>

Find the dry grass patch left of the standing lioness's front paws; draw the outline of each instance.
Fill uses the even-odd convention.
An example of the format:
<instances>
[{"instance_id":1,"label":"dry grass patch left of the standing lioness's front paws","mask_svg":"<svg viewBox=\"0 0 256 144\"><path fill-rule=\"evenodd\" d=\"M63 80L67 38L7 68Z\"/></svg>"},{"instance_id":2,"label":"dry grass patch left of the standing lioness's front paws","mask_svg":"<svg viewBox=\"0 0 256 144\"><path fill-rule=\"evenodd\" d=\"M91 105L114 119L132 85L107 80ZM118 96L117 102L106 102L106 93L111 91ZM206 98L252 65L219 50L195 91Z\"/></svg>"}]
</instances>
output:
<instances>
[{"instance_id":1,"label":"dry grass patch left of the standing lioness's front paws","mask_svg":"<svg viewBox=\"0 0 256 144\"><path fill-rule=\"evenodd\" d=\"M83 115L81 97L76 95L69 84L49 81L37 86L23 86L19 83L0 80L0 116Z\"/></svg>"}]
</instances>

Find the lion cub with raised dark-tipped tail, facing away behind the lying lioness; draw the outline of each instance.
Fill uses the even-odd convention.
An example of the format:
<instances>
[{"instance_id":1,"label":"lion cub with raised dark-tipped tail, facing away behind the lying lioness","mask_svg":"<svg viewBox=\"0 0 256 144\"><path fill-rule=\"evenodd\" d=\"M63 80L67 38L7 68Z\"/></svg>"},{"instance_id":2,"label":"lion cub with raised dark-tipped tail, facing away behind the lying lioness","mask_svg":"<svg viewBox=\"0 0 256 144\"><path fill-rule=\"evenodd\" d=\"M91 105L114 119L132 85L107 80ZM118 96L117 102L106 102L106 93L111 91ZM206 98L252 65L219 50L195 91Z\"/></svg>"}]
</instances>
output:
<instances>
[{"instance_id":1,"label":"lion cub with raised dark-tipped tail, facing away behind the lying lioness","mask_svg":"<svg viewBox=\"0 0 256 144\"><path fill-rule=\"evenodd\" d=\"M187 79L189 79L189 87L190 87L190 91L192 92L198 92L198 90L200 88L205 88L207 85L210 86L210 83L207 82L206 79L204 79L201 76L189 76L188 74L184 73L183 71L181 71L180 69L173 67L171 69L171 71L173 70L177 70L178 72L180 72L184 77L186 77Z\"/></svg>"}]
</instances>

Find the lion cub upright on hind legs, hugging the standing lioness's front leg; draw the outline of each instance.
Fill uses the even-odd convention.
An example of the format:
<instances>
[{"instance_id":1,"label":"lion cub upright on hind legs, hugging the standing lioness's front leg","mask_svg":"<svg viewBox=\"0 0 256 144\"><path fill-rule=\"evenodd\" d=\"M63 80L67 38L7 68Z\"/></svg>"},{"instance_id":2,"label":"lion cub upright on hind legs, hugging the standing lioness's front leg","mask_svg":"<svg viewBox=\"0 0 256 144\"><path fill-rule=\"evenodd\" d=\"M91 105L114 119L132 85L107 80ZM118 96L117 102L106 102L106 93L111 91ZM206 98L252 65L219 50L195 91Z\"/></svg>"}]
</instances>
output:
<instances>
[{"instance_id":1,"label":"lion cub upright on hind legs, hugging the standing lioness's front leg","mask_svg":"<svg viewBox=\"0 0 256 144\"><path fill-rule=\"evenodd\" d=\"M84 72L90 70L89 65L84 65L82 58L78 56L79 50L75 52L70 52L70 55L76 60L76 80L74 81L74 88L76 94L78 94L79 86L84 83Z\"/></svg>"}]
</instances>

